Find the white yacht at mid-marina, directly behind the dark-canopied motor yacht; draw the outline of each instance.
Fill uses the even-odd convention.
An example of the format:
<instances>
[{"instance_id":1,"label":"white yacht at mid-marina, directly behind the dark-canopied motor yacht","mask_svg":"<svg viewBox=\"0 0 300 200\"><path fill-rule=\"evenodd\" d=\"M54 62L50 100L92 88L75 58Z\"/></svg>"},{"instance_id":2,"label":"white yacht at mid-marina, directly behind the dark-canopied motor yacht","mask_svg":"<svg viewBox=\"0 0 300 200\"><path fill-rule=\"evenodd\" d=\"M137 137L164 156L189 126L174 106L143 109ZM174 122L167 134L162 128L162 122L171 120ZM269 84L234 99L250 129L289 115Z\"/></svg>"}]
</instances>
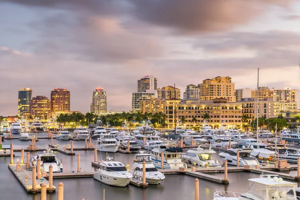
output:
<instances>
[{"instance_id":1,"label":"white yacht at mid-marina, directly behind the dark-canopied motor yacht","mask_svg":"<svg viewBox=\"0 0 300 200\"><path fill-rule=\"evenodd\" d=\"M138 143L140 146L144 146L145 149L151 150L153 149L156 145L162 144L163 141L160 140L160 137L157 136L156 134L141 134L138 133L135 136L135 141ZM143 144L143 140L145 140Z\"/></svg>"}]
</instances>

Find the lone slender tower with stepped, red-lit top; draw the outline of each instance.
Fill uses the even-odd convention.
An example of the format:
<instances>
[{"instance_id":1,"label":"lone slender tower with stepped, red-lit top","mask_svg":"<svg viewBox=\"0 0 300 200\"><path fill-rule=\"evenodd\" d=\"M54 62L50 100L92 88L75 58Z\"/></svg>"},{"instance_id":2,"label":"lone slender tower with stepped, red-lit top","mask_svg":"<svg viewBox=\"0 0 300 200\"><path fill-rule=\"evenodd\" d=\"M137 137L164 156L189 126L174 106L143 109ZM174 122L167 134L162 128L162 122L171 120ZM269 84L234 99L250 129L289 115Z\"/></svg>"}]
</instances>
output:
<instances>
[{"instance_id":1,"label":"lone slender tower with stepped, red-lit top","mask_svg":"<svg viewBox=\"0 0 300 200\"><path fill-rule=\"evenodd\" d=\"M95 113L107 112L106 91L102 87L97 87L92 92L92 102L90 103L90 111Z\"/></svg>"}]
</instances>

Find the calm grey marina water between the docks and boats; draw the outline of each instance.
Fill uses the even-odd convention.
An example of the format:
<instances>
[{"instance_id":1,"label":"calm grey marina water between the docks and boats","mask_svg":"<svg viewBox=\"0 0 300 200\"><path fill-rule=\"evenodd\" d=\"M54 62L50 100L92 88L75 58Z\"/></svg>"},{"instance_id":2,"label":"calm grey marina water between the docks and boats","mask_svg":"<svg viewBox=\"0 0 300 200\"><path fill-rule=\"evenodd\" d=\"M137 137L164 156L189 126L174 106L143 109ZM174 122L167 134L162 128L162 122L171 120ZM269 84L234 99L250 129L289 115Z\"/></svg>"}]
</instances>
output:
<instances>
[{"instance_id":1,"label":"calm grey marina water between the docks and boats","mask_svg":"<svg viewBox=\"0 0 300 200\"><path fill-rule=\"evenodd\" d=\"M46 133L38 133L38 136L46 136ZM3 143L13 142L14 148L26 147L31 141L20 140L4 140ZM70 144L69 141L55 140L62 148L63 144ZM40 139L36 141L39 148L44 148L50 143L50 139ZM74 147L84 147L84 140L73 141ZM93 150L75 151L80 153L81 171L94 171L91 166L91 160L94 159ZM36 152L37 154L38 152ZM39 151L39 153L41 153ZM63 170L65 172L77 170L77 156L65 155L54 151L56 156L62 159ZM118 161L129 164L131 163L134 154L110 153L111 157L116 157ZM98 160L106 157L105 153L97 153ZM216 155L217 156L217 155ZM219 157L216 157L219 159ZM20 152L15 152L14 161L20 159ZM26 158L25 158L26 159ZM9 157L0 157L0 199L40 199L39 194L28 194L24 188L16 180L14 175L9 171L7 164ZM296 173L292 171L291 173ZM213 173L213 175L223 177L222 173ZM210 200L213 197L215 189L231 190L244 192L249 187L247 179L259 177L258 174L248 172L228 173L230 183L228 185L218 184L207 180L199 179L200 199ZM160 185L149 185L147 188L137 188L132 185L126 187L113 187L100 183L93 178L70 178L70 179L53 179L53 184L57 187L59 182L64 184L64 199L102 199L103 188L105 188L105 199L131 199L131 200L146 200L146 199L194 199L194 177L187 175L166 175ZM47 194L47 199L56 200L57 192Z\"/></svg>"}]
</instances>

